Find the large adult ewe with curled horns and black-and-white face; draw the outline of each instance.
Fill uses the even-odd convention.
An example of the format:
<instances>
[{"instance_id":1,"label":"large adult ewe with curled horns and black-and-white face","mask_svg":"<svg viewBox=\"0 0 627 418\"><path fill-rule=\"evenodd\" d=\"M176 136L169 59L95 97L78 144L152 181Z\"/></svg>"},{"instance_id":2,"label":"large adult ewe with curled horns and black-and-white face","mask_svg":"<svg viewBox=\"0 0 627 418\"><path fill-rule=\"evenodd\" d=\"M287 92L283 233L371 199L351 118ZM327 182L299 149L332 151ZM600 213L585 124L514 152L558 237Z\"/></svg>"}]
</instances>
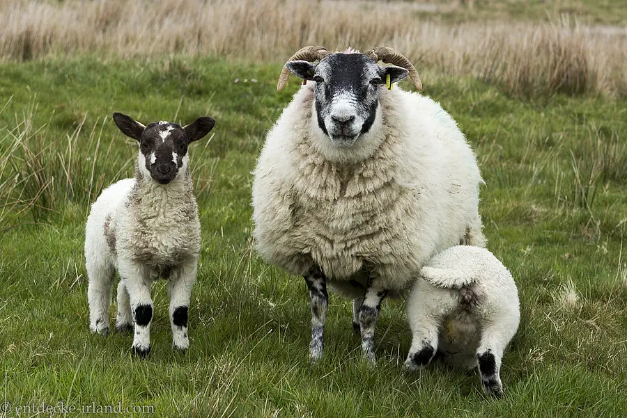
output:
<instances>
[{"instance_id":1,"label":"large adult ewe with curled horns and black-and-white face","mask_svg":"<svg viewBox=\"0 0 627 418\"><path fill-rule=\"evenodd\" d=\"M391 89L408 75L421 88L394 49L305 47L286 63L279 90L289 72L314 82L295 94L259 156L256 248L307 282L311 360L323 354L330 284L353 298L353 326L374 361L383 298L407 288L437 252L484 244L477 161L440 104Z\"/></svg>"}]
</instances>

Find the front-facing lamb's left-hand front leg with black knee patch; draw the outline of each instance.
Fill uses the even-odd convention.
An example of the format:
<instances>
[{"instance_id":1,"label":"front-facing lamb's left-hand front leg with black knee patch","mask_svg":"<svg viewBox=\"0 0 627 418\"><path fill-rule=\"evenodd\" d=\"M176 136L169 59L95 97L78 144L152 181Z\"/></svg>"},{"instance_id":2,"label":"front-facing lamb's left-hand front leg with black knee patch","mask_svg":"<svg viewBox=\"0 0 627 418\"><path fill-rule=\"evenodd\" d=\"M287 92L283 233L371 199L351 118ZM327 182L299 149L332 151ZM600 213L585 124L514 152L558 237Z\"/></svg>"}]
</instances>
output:
<instances>
[{"instance_id":1,"label":"front-facing lamb's left-hand front leg with black knee patch","mask_svg":"<svg viewBox=\"0 0 627 418\"><path fill-rule=\"evenodd\" d=\"M134 355L146 357L150 353L150 321L153 319L150 275L138 262L118 261L118 267L133 312L134 332L131 351Z\"/></svg>"}]
</instances>

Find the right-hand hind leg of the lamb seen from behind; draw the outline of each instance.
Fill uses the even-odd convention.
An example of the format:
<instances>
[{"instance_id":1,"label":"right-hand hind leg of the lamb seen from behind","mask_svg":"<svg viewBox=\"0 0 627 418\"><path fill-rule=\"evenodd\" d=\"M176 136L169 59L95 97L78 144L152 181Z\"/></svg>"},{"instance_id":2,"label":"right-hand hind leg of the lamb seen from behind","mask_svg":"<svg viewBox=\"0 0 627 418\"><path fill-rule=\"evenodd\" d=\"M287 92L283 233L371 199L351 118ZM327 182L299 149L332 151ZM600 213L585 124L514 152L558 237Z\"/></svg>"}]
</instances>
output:
<instances>
[{"instance_id":1,"label":"right-hand hind leg of the lamb seen from behind","mask_svg":"<svg viewBox=\"0 0 627 418\"><path fill-rule=\"evenodd\" d=\"M481 385L488 395L501 396L500 369L503 351L513 337L518 325L518 316L497 316L497 321L483 325L481 342L477 349L477 367L481 375ZM513 323L515 322L515 325Z\"/></svg>"}]
</instances>

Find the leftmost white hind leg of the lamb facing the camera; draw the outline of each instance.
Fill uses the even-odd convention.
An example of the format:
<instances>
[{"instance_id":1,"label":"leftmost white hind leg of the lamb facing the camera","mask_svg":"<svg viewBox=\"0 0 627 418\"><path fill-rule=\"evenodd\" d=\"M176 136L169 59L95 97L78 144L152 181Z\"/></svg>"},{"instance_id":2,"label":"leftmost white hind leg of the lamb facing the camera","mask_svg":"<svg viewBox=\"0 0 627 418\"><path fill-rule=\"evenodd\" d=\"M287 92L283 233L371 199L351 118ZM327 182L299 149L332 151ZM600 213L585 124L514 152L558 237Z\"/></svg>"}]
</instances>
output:
<instances>
[{"instance_id":1,"label":"leftmost white hind leg of the lamb facing the camera","mask_svg":"<svg viewBox=\"0 0 627 418\"><path fill-rule=\"evenodd\" d=\"M100 335L109 334L109 305L111 303L111 287L115 271L113 266L87 262L89 284L87 299L89 302L89 326Z\"/></svg>"}]
</instances>

